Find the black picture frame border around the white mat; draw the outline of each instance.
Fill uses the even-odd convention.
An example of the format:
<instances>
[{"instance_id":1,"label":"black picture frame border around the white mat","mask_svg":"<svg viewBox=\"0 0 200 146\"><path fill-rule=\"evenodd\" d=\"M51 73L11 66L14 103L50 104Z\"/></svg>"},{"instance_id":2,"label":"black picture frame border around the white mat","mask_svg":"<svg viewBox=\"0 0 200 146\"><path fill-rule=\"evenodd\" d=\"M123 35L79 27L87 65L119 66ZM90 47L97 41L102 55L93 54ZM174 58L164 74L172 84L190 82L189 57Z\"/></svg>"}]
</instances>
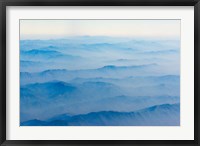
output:
<instances>
[{"instance_id":1,"label":"black picture frame border around the white mat","mask_svg":"<svg viewBox=\"0 0 200 146\"><path fill-rule=\"evenodd\" d=\"M6 140L7 6L194 6L194 140ZM1 146L199 146L200 145L200 0L0 0L0 144Z\"/></svg>"}]
</instances>

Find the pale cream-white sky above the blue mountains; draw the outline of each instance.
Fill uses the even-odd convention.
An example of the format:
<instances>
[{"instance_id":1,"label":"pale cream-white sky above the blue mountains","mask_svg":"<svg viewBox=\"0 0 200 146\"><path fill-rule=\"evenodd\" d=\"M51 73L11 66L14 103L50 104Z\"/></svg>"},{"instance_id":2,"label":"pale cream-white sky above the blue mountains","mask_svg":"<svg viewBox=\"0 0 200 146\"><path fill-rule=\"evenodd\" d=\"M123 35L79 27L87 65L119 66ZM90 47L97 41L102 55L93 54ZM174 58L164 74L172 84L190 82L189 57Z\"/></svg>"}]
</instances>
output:
<instances>
[{"instance_id":1,"label":"pale cream-white sky above the blue mountains","mask_svg":"<svg viewBox=\"0 0 200 146\"><path fill-rule=\"evenodd\" d=\"M180 38L180 20L20 20L21 39L67 36Z\"/></svg>"}]
</instances>

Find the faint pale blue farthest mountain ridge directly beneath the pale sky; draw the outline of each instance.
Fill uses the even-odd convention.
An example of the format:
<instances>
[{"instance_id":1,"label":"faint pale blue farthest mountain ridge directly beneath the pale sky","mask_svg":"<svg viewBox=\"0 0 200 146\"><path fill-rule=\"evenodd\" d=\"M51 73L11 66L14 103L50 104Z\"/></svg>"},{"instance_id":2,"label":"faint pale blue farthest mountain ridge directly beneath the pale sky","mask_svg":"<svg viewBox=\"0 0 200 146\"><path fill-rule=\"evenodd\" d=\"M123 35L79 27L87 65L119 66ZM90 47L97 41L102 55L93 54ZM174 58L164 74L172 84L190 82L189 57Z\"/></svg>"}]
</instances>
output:
<instances>
[{"instance_id":1,"label":"faint pale blue farthest mountain ridge directly beneath the pale sky","mask_svg":"<svg viewBox=\"0 0 200 146\"><path fill-rule=\"evenodd\" d=\"M142 48L146 49L167 49L179 48L179 40L150 40L137 38L123 38L123 37L106 37L106 36L76 36L66 37L65 39L51 39L51 40L20 40L20 49L40 49L48 47L64 48L65 46L78 45L95 45L95 44L112 44L124 47ZM87 46L88 47L88 46ZM97 46L98 47L98 46ZM100 46L102 47L102 46Z\"/></svg>"}]
</instances>

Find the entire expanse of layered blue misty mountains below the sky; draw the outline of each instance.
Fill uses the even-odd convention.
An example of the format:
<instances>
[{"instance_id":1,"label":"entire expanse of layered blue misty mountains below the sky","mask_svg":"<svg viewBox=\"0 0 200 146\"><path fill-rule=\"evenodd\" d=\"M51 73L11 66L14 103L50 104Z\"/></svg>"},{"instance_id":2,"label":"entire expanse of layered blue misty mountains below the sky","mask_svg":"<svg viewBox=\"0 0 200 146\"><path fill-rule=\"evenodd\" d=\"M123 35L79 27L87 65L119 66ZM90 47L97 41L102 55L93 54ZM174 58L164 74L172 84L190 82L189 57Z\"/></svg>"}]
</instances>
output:
<instances>
[{"instance_id":1,"label":"entire expanse of layered blue misty mountains below the sky","mask_svg":"<svg viewBox=\"0 0 200 146\"><path fill-rule=\"evenodd\" d=\"M20 40L21 125L180 125L179 103L179 40Z\"/></svg>"}]
</instances>

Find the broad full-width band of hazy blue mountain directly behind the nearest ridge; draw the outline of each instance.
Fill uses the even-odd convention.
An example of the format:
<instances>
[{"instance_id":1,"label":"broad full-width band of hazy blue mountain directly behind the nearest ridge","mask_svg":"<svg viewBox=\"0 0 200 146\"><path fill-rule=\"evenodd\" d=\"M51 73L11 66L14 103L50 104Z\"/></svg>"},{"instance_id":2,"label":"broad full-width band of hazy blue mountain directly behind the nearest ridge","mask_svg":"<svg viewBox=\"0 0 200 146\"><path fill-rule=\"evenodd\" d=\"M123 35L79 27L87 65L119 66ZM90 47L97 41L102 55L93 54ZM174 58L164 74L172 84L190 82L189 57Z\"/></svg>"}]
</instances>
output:
<instances>
[{"instance_id":1,"label":"broad full-width band of hazy blue mountain directly behind the nearest ridge","mask_svg":"<svg viewBox=\"0 0 200 146\"><path fill-rule=\"evenodd\" d=\"M48 118L61 112L59 109L74 114L100 110L133 111L151 105L180 102L178 90L173 88L177 93L164 90L165 88L152 87L124 90L115 84L100 81L80 84L62 81L27 84L20 88L21 110L25 110L24 114L27 115L21 120L31 117L30 114L32 117ZM146 95L144 92L150 94ZM40 113L37 113L38 110ZM28 114L29 111L32 113ZM49 113L43 115L46 111Z\"/></svg>"}]
</instances>

